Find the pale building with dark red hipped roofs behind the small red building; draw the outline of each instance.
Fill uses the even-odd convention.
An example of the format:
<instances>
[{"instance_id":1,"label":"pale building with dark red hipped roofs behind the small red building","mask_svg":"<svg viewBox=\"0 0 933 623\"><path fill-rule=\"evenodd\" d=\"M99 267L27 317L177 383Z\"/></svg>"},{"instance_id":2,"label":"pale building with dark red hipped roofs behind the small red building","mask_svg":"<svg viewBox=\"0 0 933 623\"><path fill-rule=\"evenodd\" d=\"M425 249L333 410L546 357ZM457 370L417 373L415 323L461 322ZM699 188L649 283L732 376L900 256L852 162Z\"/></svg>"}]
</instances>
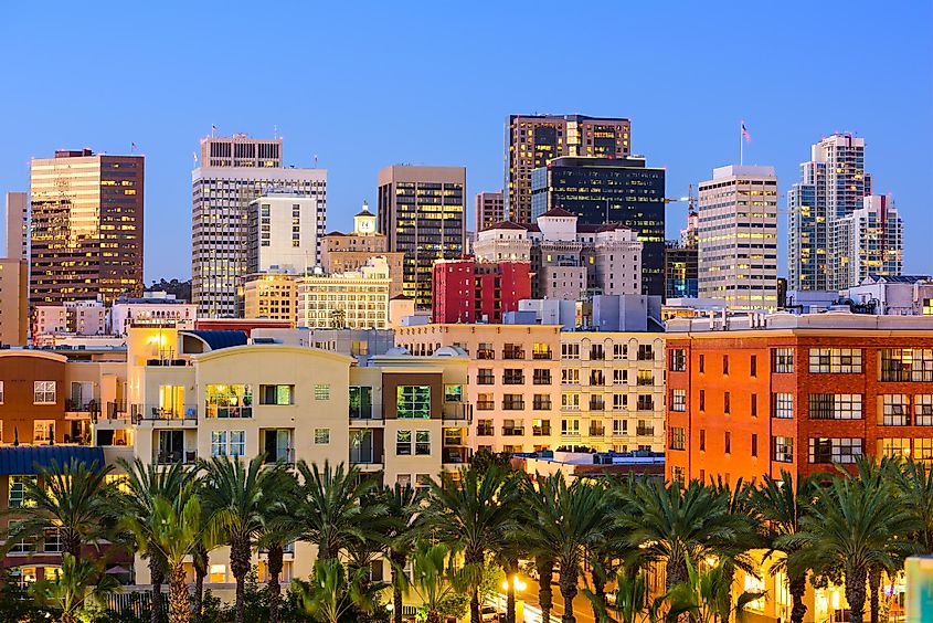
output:
<instances>
[{"instance_id":1,"label":"pale building with dark red hipped roofs behind the small red building","mask_svg":"<svg viewBox=\"0 0 933 623\"><path fill-rule=\"evenodd\" d=\"M559 208L538 223L505 221L479 232L484 262L531 262L531 298L579 300L594 295L640 294L644 243L617 224L586 225Z\"/></svg>"}]
</instances>

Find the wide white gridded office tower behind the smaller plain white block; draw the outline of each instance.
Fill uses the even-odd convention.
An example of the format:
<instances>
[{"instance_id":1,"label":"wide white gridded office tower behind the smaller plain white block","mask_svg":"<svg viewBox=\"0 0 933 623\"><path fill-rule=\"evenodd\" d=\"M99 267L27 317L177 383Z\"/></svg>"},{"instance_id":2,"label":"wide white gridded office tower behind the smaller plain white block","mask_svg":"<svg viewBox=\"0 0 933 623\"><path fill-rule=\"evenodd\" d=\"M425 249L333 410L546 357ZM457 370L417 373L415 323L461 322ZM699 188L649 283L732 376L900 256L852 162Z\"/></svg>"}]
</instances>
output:
<instances>
[{"instance_id":1,"label":"wide white gridded office tower behind the smaller plain white block","mask_svg":"<svg viewBox=\"0 0 933 623\"><path fill-rule=\"evenodd\" d=\"M244 134L201 139L200 162L191 172L192 303L199 317L232 318L248 271L250 204L272 191L309 198L312 205L301 210L315 212L316 265L325 230L327 171L285 168L280 138Z\"/></svg>"}]
</instances>

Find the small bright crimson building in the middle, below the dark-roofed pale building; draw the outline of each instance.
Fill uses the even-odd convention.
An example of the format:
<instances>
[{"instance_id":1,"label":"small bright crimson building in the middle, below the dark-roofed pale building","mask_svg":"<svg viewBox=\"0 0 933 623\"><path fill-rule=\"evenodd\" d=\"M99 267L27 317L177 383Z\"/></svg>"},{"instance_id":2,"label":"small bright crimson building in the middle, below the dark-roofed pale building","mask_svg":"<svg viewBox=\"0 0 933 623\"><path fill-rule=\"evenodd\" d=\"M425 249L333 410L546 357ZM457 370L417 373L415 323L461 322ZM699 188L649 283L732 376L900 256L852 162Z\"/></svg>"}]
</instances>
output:
<instances>
[{"instance_id":1,"label":"small bright crimson building in the middle, below the dark-roofed pale building","mask_svg":"<svg viewBox=\"0 0 933 623\"><path fill-rule=\"evenodd\" d=\"M473 257L434 263L431 318L434 323L502 321L531 298L529 262L477 262Z\"/></svg>"}]
</instances>

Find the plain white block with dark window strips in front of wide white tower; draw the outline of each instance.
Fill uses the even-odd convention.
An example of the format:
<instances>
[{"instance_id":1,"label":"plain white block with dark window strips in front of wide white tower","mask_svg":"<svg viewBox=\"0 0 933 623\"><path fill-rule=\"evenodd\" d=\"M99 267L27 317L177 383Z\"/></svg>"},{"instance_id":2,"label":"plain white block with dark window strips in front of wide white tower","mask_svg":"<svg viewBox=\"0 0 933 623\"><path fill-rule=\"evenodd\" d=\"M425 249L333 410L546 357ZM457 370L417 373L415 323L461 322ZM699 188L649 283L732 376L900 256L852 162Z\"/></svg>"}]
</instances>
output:
<instances>
[{"instance_id":1,"label":"plain white block with dark window strips in front of wide white tower","mask_svg":"<svg viewBox=\"0 0 933 623\"><path fill-rule=\"evenodd\" d=\"M246 272L299 275L320 261L324 203L294 192L268 191L248 208Z\"/></svg>"}]
</instances>

